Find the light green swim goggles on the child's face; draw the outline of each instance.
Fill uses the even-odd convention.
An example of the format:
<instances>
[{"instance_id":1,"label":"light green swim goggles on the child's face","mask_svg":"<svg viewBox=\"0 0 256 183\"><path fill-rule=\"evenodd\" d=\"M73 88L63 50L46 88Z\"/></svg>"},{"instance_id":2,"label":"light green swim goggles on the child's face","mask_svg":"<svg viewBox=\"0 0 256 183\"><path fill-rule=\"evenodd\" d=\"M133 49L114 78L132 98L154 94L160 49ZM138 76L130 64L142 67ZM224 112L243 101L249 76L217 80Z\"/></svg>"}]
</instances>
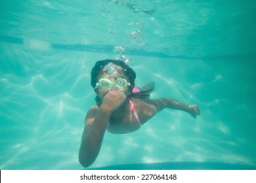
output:
<instances>
[{"instance_id":1,"label":"light green swim goggles on the child's face","mask_svg":"<svg viewBox=\"0 0 256 183\"><path fill-rule=\"evenodd\" d=\"M114 82L112 80L109 80L108 78L101 78L96 83L95 88L97 88L98 86L100 88L112 88L114 85L117 86L119 89L126 88L127 85L131 86L131 84L127 82L125 78L117 78Z\"/></svg>"}]
</instances>

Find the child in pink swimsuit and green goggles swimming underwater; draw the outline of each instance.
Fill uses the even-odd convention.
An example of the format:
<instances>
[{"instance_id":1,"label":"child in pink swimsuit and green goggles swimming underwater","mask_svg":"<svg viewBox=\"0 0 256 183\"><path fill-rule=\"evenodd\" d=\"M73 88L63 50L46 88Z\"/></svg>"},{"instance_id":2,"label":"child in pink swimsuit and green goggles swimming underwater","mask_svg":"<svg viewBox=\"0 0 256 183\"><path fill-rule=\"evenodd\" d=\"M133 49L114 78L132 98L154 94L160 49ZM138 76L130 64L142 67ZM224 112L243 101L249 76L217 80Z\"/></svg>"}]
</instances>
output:
<instances>
[{"instance_id":1,"label":"child in pink swimsuit and green goggles swimming underwater","mask_svg":"<svg viewBox=\"0 0 256 183\"><path fill-rule=\"evenodd\" d=\"M123 61L97 61L91 71L91 86L96 93L96 105L85 116L85 128L79 150L79 162L89 167L97 158L105 131L130 133L140 128L164 108L200 115L197 105L186 105L171 98L150 99L154 83L135 87L136 74Z\"/></svg>"}]
</instances>

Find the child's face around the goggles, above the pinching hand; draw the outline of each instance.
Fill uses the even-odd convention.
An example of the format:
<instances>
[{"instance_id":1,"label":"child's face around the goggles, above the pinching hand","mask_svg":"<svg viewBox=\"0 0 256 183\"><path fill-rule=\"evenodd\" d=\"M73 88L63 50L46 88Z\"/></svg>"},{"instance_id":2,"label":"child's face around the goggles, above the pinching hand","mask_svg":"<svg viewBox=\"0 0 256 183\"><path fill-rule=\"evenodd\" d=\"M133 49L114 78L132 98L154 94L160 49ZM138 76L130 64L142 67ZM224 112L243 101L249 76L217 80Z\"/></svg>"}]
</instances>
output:
<instances>
[{"instance_id":1,"label":"child's face around the goggles, above the pinching hand","mask_svg":"<svg viewBox=\"0 0 256 183\"><path fill-rule=\"evenodd\" d=\"M117 80L117 78L124 78L125 80L127 80L127 83L129 83L128 78L123 74L123 69L121 69L117 65L115 65L115 66L116 66L116 68L114 68L114 75L113 75L113 73L110 73L108 68L104 67L102 69L102 72L100 73L100 75L98 75L98 80L100 80L101 78L108 78L108 80L110 80L112 82L115 82ZM119 88L117 86L115 86L115 85L112 85L110 88L100 88L100 87L97 87L95 89L95 92L98 95L98 97L100 98L100 101L103 101L104 96L110 90L119 90ZM129 95L129 85L128 84L127 84L127 86L125 88L122 88L121 90L123 90L123 93L126 96Z\"/></svg>"}]
</instances>

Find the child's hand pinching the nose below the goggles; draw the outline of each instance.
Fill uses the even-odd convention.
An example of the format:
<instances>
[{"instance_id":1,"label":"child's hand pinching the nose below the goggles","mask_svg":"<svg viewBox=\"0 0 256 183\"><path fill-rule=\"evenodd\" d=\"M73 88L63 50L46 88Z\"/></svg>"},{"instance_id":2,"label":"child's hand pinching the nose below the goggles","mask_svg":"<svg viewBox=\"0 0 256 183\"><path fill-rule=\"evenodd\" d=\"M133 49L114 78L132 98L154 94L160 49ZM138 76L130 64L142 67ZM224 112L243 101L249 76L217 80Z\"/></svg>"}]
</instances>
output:
<instances>
[{"instance_id":1,"label":"child's hand pinching the nose below the goggles","mask_svg":"<svg viewBox=\"0 0 256 183\"><path fill-rule=\"evenodd\" d=\"M110 90L110 92L106 93L102 103L107 105L112 109L112 111L116 110L125 100L127 96L123 93L123 90Z\"/></svg>"}]
</instances>

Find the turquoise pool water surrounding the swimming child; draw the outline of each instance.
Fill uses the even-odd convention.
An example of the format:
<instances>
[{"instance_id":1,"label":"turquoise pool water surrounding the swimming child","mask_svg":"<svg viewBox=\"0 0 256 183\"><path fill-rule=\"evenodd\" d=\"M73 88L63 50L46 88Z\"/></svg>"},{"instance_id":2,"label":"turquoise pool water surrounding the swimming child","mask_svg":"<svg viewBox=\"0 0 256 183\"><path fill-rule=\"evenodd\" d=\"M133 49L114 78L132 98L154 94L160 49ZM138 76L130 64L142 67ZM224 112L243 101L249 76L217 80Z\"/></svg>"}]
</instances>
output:
<instances>
[{"instance_id":1,"label":"turquoise pool water surrounding the swimming child","mask_svg":"<svg viewBox=\"0 0 256 183\"><path fill-rule=\"evenodd\" d=\"M91 69L120 55L138 86L156 82L152 98L198 104L202 115L163 110L135 133L106 133L91 168L256 166L254 1L0 4L1 169L83 169Z\"/></svg>"}]
</instances>

